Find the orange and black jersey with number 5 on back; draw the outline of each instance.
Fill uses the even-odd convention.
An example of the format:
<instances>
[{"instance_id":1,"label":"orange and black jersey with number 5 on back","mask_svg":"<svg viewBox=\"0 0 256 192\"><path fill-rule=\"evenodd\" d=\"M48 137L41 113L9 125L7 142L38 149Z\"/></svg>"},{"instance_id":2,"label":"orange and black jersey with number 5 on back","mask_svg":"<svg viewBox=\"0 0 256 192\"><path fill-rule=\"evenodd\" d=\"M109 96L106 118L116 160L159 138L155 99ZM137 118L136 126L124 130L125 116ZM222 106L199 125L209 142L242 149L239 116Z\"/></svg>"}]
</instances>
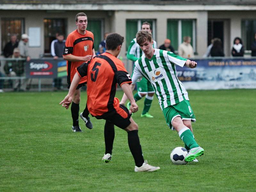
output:
<instances>
[{"instance_id":1,"label":"orange and black jersey with number 5 on back","mask_svg":"<svg viewBox=\"0 0 256 192\"><path fill-rule=\"evenodd\" d=\"M131 84L131 77L121 60L105 52L83 63L77 69L80 77L87 76L87 107L93 116L108 115L119 108L115 98L117 83Z\"/></svg>"}]
</instances>

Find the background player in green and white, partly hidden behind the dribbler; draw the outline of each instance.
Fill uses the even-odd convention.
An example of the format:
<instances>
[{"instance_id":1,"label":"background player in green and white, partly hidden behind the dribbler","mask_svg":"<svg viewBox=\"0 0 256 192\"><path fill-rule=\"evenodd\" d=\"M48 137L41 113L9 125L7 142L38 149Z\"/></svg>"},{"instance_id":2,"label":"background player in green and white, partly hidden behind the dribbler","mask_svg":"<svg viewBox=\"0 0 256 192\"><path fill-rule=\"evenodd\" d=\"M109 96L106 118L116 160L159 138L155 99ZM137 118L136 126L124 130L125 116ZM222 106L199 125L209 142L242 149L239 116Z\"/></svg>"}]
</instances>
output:
<instances>
[{"instance_id":1,"label":"background player in green and white, partly hidden behind the dribbler","mask_svg":"<svg viewBox=\"0 0 256 192\"><path fill-rule=\"evenodd\" d=\"M141 30L145 30L151 33L152 29L151 29L150 23L148 22L142 23ZM153 42L154 42L153 47L156 48L156 41L153 41ZM136 38L134 38L131 41L130 46L128 48L127 55L126 55L127 59L135 62L142 56L142 54L143 52L140 49L139 44L137 44ZM141 81L137 83L137 89L138 89L138 92L135 93L135 95L133 96L135 101L140 100L142 97L146 95L141 117L153 117L148 113L153 100L154 93L155 93L151 83L146 78L143 77ZM127 108L130 108L130 102L127 104Z\"/></svg>"}]
</instances>

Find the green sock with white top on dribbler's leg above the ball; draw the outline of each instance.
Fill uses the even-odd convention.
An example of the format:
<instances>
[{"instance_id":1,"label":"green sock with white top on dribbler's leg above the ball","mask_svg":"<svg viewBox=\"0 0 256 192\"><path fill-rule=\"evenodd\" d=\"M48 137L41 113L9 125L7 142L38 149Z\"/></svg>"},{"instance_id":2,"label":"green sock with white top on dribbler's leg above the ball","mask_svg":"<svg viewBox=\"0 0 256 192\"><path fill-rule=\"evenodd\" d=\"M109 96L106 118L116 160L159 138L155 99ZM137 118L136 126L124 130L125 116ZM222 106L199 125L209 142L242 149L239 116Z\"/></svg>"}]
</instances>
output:
<instances>
[{"instance_id":1,"label":"green sock with white top on dribbler's leg above the ball","mask_svg":"<svg viewBox=\"0 0 256 192\"><path fill-rule=\"evenodd\" d=\"M193 133L190 131L188 127L184 127L179 131L180 139L185 143L186 149L191 149L195 147L199 147L196 143Z\"/></svg>"}]
</instances>

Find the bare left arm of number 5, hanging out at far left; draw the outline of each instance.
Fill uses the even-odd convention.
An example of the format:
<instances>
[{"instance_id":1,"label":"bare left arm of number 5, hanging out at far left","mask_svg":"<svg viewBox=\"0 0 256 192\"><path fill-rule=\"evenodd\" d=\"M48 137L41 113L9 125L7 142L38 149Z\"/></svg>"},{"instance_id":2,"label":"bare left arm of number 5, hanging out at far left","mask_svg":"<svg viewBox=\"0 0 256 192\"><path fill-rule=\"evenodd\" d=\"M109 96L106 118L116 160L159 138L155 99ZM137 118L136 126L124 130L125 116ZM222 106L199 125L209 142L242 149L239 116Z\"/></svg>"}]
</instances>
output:
<instances>
[{"instance_id":1,"label":"bare left arm of number 5, hanging out at far left","mask_svg":"<svg viewBox=\"0 0 256 192\"><path fill-rule=\"evenodd\" d=\"M62 104L62 107L68 109L69 105L72 102L74 92L76 91L76 87L79 84L80 79L81 77L76 73L70 85L68 95L59 103L59 105Z\"/></svg>"}]
</instances>

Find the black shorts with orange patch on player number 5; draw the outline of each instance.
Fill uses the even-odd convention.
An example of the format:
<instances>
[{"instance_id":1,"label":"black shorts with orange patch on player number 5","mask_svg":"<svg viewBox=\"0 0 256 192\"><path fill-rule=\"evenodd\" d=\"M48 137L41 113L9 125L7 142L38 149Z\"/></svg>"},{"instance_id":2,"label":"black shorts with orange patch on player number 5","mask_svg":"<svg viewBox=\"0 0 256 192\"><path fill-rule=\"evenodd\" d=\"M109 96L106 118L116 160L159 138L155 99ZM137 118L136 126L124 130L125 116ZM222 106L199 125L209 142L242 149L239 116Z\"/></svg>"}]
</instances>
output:
<instances>
[{"instance_id":1,"label":"black shorts with orange patch on player number 5","mask_svg":"<svg viewBox=\"0 0 256 192\"><path fill-rule=\"evenodd\" d=\"M97 119L105 119L121 129L125 129L131 124L130 118L132 114L124 105L119 105L115 112L109 115L95 116Z\"/></svg>"}]
</instances>

